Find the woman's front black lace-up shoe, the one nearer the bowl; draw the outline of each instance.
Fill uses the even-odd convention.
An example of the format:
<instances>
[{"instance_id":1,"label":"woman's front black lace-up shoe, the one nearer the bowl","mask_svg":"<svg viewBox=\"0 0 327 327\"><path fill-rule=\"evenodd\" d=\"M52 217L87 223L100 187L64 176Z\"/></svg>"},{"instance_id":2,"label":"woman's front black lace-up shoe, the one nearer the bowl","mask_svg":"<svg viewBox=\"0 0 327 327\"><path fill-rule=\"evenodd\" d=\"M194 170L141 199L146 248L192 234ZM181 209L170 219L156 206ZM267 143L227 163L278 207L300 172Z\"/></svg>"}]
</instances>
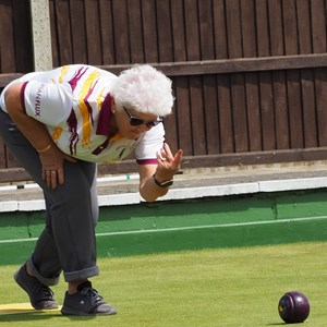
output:
<instances>
[{"instance_id":1,"label":"woman's front black lace-up shoe, the one nearer the bowl","mask_svg":"<svg viewBox=\"0 0 327 327\"><path fill-rule=\"evenodd\" d=\"M117 311L107 304L102 296L92 288L89 281L85 281L77 288L77 293L64 296L61 308L63 315L93 316L93 315L114 315Z\"/></svg>"}]
</instances>

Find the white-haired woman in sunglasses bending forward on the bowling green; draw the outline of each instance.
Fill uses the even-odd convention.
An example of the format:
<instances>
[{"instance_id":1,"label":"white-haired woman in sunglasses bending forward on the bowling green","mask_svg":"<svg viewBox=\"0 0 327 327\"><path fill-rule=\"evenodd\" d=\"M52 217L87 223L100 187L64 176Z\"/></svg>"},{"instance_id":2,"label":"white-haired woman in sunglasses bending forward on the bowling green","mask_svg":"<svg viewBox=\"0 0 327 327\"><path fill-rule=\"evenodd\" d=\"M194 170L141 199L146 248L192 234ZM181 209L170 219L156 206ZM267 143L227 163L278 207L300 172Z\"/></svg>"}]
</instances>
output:
<instances>
[{"instance_id":1,"label":"white-haired woman in sunglasses bending forward on the bowling green","mask_svg":"<svg viewBox=\"0 0 327 327\"><path fill-rule=\"evenodd\" d=\"M0 99L0 134L44 191L46 227L33 254L15 272L35 308L57 308L49 286L63 271L66 315L116 314L92 287L98 219L96 162L117 162L132 152L140 193L153 202L168 192L182 150L165 143L171 81L150 65L116 76L72 64L24 75Z\"/></svg>"}]
</instances>

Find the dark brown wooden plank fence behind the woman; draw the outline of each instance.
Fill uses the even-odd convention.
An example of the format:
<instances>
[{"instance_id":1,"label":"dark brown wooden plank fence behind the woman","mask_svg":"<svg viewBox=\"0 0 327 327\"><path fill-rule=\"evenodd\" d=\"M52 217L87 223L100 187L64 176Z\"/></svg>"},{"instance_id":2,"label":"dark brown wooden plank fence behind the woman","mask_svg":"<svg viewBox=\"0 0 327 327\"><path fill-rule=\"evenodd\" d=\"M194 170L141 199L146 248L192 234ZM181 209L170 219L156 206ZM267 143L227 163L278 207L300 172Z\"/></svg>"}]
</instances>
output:
<instances>
[{"instance_id":1,"label":"dark brown wooden plank fence behind the woman","mask_svg":"<svg viewBox=\"0 0 327 327\"><path fill-rule=\"evenodd\" d=\"M1 34L10 25L8 14L1 20L1 4L15 13L22 2L0 0ZM49 3L53 66L83 62L119 73L147 62L172 78L175 106L165 122L167 141L183 148L185 167L327 158L326 1ZM8 69L1 60L0 73L33 70L15 50L22 38L12 36L28 26L28 17L16 15L14 33L3 33L11 37L11 56L0 45L1 58L5 52L13 63ZM15 167L4 161L0 168Z\"/></svg>"}]
</instances>

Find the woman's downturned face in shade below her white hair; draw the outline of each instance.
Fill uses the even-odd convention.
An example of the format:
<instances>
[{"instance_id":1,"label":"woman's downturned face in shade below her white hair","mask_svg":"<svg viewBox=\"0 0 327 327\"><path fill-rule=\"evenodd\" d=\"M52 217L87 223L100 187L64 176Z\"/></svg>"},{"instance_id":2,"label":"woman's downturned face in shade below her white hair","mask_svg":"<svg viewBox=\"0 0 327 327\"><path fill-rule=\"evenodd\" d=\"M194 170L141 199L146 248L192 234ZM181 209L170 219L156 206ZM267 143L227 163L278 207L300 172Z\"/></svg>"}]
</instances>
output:
<instances>
[{"instance_id":1,"label":"woman's downturned face in shade below her white hair","mask_svg":"<svg viewBox=\"0 0 327 327\"><path fill-rule=\"evenodd\" d=\"M117 108L113 113L117 129L120 131L120 133L123 135L123 137L128 140L136 140L140 137L143 133L149 131L152 129L152 124L142 123L138 125L132 125L131 123L135 122L135 119L137 121L144 121L144 122L152 122L157 120L157 116L149 114L149 113L141 113L137 112L135 109L132 108ZM140 121L140 122L141 122Z\"/></svg>"}]
</instances>

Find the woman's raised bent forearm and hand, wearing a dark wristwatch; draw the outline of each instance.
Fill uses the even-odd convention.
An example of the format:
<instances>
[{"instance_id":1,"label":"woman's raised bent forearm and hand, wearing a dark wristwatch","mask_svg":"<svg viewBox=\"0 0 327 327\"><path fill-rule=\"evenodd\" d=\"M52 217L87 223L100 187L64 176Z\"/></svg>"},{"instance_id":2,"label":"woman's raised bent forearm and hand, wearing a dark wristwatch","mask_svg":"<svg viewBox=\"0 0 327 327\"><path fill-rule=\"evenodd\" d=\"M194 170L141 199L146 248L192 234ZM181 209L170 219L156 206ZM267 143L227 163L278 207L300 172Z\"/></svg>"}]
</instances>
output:
<instances>
[{"instance_id":1,"label":"woman's raised bent forearm and hand, wearing a dark wristwatch","mask_svg":"<svg viewBox=\"0 0 327 327\"><path fill-rule=\"evenodd\" d=\"M179 149L175 155L170 150L167 143L157 154L158 165L138 165L140 194L146 202L154 202L167 194L169 181L180 169L183 150Z\"/></svg>"}]
</instances>

